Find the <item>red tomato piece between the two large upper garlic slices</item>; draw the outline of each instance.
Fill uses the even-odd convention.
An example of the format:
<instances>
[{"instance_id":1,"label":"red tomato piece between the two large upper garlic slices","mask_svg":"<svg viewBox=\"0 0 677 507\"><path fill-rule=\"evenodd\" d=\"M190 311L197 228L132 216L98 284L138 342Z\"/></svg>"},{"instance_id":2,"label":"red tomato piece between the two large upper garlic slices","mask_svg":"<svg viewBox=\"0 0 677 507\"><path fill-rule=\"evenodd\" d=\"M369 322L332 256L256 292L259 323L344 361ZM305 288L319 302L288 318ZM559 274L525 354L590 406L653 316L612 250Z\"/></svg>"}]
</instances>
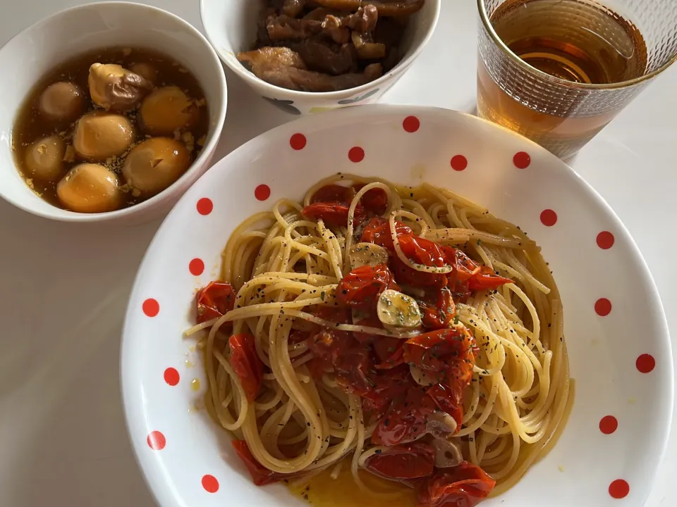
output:
<instances>
[{"instance_id":1,"label":"red tomato piece between the two large upper garlic slices","mask_svg":"<svg viewBox=\"0 0 677 507\"><path fill-rule=\"evenodd\" d=\"M355 268L338 282L336 301L354 308L376 306L379 295L393 284L393 274L385 264Z\"/></svg>"}]
</instances>

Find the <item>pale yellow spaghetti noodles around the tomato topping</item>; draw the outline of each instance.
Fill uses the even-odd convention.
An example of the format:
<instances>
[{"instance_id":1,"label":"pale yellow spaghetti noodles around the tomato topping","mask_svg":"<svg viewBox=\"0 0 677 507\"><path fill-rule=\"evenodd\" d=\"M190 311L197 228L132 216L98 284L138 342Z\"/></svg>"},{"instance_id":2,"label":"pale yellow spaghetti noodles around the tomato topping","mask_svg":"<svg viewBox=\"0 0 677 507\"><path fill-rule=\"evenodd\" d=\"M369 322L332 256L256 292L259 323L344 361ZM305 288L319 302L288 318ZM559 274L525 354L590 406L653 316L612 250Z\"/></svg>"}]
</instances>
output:
<instances>
[{"instance_id":1,"label":"pale yellow spaghetti noodles around the tomato topping","mask_svg":"<svg viewBox=\"0 0 677 507\"><path fill-rule=\"evenodd\" d=\"M348 181L364 186L350 203L347 227L330 227L302 214L319 189ZM221 280L233 286L234 308L187 332L209 330L209 410L246 442L264 469L290 478L329 469L336 477L350 463L355 481L362 484L358 470L381 452L370 443L378 421L365 417L360 396L346 391L331 371L319 376L312 371L307 340L294 337L318 327L403 339L412 335L393 327L335 323L315 311L336 305L337 287L350 271L351 246L359 238L358 206L374 189L387 198L382 216L389 221L394 253L408 268L432 275L449 275L454 269L422 265L405 255L396 220L416 237L461 249L514 281L457 301L454 320L470 330L477 347L455 438L463 458L496 480L494 493L500 493L547 452L571 406L561 299L539 247L527 234L430 184L412 189L335 175L315 184L303 203L283 199L231 234ZM254 337L264 365L254 401L248 400L228 346L231 334L242 333ZM343 463L347 456L352 457Z\"/></svg>"}]
</instances>

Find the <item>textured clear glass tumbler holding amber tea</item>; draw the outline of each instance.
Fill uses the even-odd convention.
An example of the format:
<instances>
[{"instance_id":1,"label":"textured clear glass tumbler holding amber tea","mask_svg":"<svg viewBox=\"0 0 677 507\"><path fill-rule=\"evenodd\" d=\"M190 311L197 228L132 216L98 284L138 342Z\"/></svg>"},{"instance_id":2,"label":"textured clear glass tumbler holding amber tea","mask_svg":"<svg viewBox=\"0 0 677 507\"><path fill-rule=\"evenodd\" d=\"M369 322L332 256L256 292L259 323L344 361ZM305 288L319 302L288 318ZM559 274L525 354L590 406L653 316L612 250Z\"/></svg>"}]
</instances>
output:
<instances>
[{"instance_id":1,"label":"textured clear glass tumbler holding amber tea","mask_svg":"<svg viewBox=\"0 0 677 507\"><path fill-rule=\"evenodd\" d=\"M477 114L565 160L677 60L676 0L477 6Z\"/></svg>"}]
</instances>

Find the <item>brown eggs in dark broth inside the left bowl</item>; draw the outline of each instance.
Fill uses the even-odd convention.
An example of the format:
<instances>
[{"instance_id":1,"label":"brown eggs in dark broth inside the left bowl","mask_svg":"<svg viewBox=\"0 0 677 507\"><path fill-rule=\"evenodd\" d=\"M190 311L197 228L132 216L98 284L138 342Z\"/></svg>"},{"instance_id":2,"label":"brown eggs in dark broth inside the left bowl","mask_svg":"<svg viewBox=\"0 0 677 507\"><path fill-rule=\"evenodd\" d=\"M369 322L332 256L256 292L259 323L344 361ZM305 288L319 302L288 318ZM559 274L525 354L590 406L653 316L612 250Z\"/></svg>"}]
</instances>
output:
<instances>
[{"instance_id":1,"label":"brown eggs in dark broth inside the left bowl","mask_svg":"<svg viewBox=\"0 0 677 507\"><path fill-rule=\"evenodd\" d=\"M172 110L162 111L157 97L166 89L176 90L185 108L175 111L176 101L168 101ZM142 110L152 111L154 128L143 124ZM162 125L164 119L171 125ZM133 206L169 187L200 154L208 130L205 93L188 69L157 51L116 47L75 56L46 73L18 112L12 149L20 175L35 194L69 211L100 213ZM157 152L169 158L154 158L140 189L127 181L130 171L123 168L135 147L157 139L159 132L164 140ZM115 199L91 206L101 195L96 185L92 195L87 184L64 192L73 168L83 163L111 172L108 180L118 181Z\"/></svg>"}]
</instances>

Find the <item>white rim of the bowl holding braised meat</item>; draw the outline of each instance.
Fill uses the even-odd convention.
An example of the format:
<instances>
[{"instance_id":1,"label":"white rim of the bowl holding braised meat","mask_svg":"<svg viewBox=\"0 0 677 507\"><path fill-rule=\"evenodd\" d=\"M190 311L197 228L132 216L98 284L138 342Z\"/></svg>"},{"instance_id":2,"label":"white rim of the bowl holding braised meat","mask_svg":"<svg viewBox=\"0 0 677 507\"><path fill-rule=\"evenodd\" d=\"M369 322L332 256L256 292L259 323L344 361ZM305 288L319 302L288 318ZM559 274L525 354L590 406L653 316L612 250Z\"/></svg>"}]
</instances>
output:
<instances>
[{"instance_id":1,"label":"white rim of the bowl holding braised meat","mask_svg":"<svg viewBox=\"0 0 677 507\"><path fill-rule=\"evenodd\" d=\"M399 61L397 65L394 66L394 68L391 68L387 73L384 73L381 77L379 77L376 80L370 81L365 84L361 84L358 87L354 88L348 88L344 90L338 90L336 92L300 92L298 90L291 90L283 87L276 86L275 84L270 84L267 81L262 80L260 77L255 76L250 70L247 70L244 65L242 65L239 61L237 65L234 65L228 58L228 54L233 54L232 51L221 51L219 48L219 45L216 44L216 40L212 35L210 34L209 30L207 29L207 25L205 24L205 18L207 18L207 6L212 4L214 0L200 0L200 21L202 22L202 27L205 29L205 35L207 35L207 39L209 39L209 42L212 44L214 47L214 50L216 53L219 55L219 58L221 58L221 61L223 61L226 65L228 65L228 68L232 70L234 73L236 73L238 76L242 77L243 80L248 82L250 86L253 87L262 87L266 92L269 92L270 94L286 94L290 99L308 99L308 98L315 98L319 100L331 100L331 99L344 99L346 96L353 96L355 94L360 94L361 92L365 92L368 89L372 89L373 87L377 87L378 85L384 84L389 78L393 75L402 73L406 68L415 61L415 59L419 56L421 51L423 51L423 48L427 46L429 40L432 38L432 35L435 32L435 28L437 28L437 23L439 22L439 14L441 10L441 4L442 0L425 0L427 2L432 2L433 4L433 19L432 23L430 24L430 27L428 28L427 32L425 33L425 36L423 37L422 41L412 54L408 56L408 58L404 58L403 60ZM254 0L248 0L248 1L254 1ZM226 30L224 30L225 32Z\"/></svg>"}]
</instances>

